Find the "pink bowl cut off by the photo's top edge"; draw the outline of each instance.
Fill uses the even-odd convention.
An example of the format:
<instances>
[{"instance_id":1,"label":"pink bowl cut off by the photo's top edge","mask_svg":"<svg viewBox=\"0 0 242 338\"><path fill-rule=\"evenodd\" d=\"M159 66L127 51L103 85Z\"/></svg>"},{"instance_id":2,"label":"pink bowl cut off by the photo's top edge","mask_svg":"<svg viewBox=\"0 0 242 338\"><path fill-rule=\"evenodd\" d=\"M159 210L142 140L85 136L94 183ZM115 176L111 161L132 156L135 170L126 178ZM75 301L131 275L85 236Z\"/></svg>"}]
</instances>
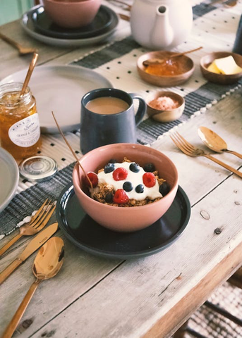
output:
<instances>
[{"instance_id":1,"label":"pink bowl cut off by the photo's top edge","mask_svg":"<svg viewBox=\"0 0 242 338\"><path fill-rule=\"evenodd\" d=\"M102 0L42 0L44 11L56 25L78 28L88 25L97 14Z\"/></svg>"}]
</instances>

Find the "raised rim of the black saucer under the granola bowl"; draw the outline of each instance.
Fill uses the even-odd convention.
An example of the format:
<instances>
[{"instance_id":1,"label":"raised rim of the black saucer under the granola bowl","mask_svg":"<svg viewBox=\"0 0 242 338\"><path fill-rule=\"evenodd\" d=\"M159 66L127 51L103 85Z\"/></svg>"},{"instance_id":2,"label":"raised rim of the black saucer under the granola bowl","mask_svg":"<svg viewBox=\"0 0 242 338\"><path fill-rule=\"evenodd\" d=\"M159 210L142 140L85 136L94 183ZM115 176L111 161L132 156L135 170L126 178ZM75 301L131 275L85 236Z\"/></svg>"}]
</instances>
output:
<instances>
[{"instance_id":1,"label":"raised rim of the black saucer under the granola bowl","mask_svg":"<svg viewBox=\"0 0 242 338\"><path fill-rule=\"evenodd\" d=\"M164 244L162 244L162 246L157 247L157 249L145 249L143 251L139 251L139 252L135 252L135 253L126 253L126 254L125 253L110 253L110 251L104 251L104 250L100 250L100 249L93 249L92 247L90 247L88 245L80 244L80 242L78 242L77 239L75 239L74 237L71 236L71 234L68 233L68 231L66 230L65 225L63 225L63 221L62 221L61 215L60 215L61 199L63 198L63 195L66 192L68 192L70 189L73 189L73 182L67 184L66 187L63 188L63 190L61 191L61 194L59 195L59 198L57 199L57 202L56 202L56 219L57 219L57 221L59 223L59 227L61 228L61 230L63 231L63 233L65 234L65 236L73 244L75 244L75 246L77 246L78 249L82 249L83 251L86 251L88 253L92 253L95 256L100 256L100 257L102 256L104 258L113 258L113 259L129 259L129 258L141 258L141 257L146 257L146 256L153 255L155 253L163 251L164 249L167 249L167 247L169 247L171 244L173 244L176 241L176 239L178 239L181 236L181 234L183 233L183 231L186 229L186 227L187 227L187 225L189 223L189 220L190 220L190 215L191 215L190 201L188 199L188 196L187 196L186 192L179 185L178 192L183 196L183 199L186 202L186 206L187 206L188 212L186 214L186 218L185 218L185 220L183 222L183 225L181 226L181 228L179 229L179 231L176 232L176 234L174 234L174 236L171 237L171 239L168 239L167 242L165 242ZM140 231L142 231L142 230L140 230Z\"/></svg>"}]
</instances>

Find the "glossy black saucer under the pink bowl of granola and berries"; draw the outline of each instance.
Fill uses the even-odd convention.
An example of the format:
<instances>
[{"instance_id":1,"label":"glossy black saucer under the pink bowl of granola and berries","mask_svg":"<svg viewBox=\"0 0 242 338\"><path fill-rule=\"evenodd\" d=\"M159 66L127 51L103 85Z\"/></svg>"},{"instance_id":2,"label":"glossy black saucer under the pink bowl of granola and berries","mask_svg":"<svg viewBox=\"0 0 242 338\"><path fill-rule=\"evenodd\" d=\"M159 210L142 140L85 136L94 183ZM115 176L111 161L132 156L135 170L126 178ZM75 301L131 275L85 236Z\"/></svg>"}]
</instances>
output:
<instances>
[{"instance_id":1,"label":"glossy black saucer under the pink bowl of granola and berries","mask_svg":"<svg viewBox=\"0 0 242 338\"><path fill-rule=\"evenodd\" d=\"M98 225L83 211L71 183L59 196L56 217L66 237L80 249L107 258L136 258L157 253L178 239L190 219L190 201L179 187L167 213L150 227L114 232Z\"/></svg>"}]
</instances>

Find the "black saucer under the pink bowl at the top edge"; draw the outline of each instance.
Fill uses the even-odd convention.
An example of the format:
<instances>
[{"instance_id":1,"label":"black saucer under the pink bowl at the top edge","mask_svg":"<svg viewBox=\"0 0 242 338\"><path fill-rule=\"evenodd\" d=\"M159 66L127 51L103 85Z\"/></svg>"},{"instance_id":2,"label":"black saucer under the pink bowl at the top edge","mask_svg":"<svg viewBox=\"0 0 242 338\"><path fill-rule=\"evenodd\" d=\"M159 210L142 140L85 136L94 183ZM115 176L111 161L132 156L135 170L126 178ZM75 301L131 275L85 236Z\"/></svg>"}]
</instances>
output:
<instances>
[{"instance_id":1,"label":"black saucer under the pink bowl at the top edge","mask_svg":"<svg viewBox=\"0 0 242 338\"><path fill-rule=\"evenodd\" d=\"M60 39L85 39L102 35L113 28L116 13L107 6L100 6L92 23L85 27L69 29L59 27L44 12L43 6L37 6L30 12L30 18L37 32Z\"/></svg>"}]
</instances>

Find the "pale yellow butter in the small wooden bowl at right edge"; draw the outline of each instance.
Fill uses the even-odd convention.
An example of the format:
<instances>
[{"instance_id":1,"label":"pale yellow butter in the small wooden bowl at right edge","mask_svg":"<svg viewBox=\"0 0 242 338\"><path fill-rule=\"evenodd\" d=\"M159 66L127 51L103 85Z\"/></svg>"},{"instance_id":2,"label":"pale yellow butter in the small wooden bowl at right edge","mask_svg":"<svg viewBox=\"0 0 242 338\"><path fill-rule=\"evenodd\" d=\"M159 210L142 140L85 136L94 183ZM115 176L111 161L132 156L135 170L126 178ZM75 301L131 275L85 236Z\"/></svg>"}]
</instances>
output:
<instances>
[{"instance_id":1,"label":"pale yellow butter in the small wooden bowl at right edge","mask_svg":"<svg viewBox=\"0 0 242 338\"><path fill-rule=\"evenodd\" d=\"M212 68L211 70L209 68ZM226 58L217 58L215 59L208 70L213 73L222 73L225 75L237 74L242 72L242 68L239 67L234 61L233 56L227 56ZM219 72L217 72L219 70Z\"/></svg>"}]
</instances>

